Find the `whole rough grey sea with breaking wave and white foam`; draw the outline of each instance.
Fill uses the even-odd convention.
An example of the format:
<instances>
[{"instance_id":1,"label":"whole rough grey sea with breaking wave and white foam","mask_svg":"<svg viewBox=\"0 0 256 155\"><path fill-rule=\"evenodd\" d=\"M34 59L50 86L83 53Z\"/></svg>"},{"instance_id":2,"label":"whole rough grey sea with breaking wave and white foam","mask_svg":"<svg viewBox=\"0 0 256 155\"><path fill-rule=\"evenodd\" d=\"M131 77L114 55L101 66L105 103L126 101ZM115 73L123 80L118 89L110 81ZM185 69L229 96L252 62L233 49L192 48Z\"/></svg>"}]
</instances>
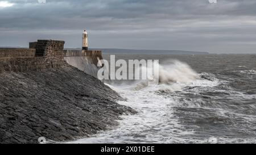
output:
<instances>
[{"instance_id":1,"label":"whole rough grey sea with breaking wave and white foam","mask_svg":"<svg viewBox=\"0 0 256 155\"><path fill-rule=\"evenodd\" d=\"M256 55L115 58L159 60L164 82L106 81L138 114L70 143L256 143Z\"/></svg>"}]
</instances>

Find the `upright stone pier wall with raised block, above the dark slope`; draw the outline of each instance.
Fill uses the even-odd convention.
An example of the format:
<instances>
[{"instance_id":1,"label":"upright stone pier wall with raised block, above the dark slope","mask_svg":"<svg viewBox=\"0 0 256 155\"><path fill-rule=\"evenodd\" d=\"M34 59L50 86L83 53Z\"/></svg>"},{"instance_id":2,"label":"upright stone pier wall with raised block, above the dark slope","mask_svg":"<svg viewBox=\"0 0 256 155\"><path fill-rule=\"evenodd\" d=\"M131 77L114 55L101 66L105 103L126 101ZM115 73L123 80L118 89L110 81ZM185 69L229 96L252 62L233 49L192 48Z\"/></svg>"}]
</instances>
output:
<instances>
[{"instance_id":1,"label":"upright stone pier wall with raised block, above the dark slope","mask_svg":"<svg viewBox=\"0 0 256 155\"><path fill-rule=\"evenodd\" d=\"M64 41L38 40L30 48L0 49L0 72L26 72L45 70L69 64L83 72L97 77L102 59L101 51L63 50Z\"/></svg>"}]
</instances>

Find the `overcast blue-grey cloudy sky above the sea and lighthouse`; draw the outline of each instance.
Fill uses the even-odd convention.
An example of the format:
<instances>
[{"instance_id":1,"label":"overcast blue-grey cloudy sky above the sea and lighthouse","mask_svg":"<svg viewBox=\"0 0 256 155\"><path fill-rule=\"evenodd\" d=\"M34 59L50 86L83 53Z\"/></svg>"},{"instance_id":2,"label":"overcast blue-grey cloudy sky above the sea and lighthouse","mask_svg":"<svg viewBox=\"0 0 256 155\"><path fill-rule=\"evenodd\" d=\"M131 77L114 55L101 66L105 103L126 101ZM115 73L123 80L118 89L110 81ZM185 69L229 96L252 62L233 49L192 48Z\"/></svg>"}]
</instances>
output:
<instances>
[{"instance_id":1,"label":"overcast blue-grey cloudy sky above the sea and lighthouse","mask_svg":"<svg viewBox=\"0 0 256 155\"><path fill-rule=\"evenodd\" d=\"M46 1L0 0L0 46L59 39L81 47L86 28L92 48L256 53L255 0Z\"/></svg>"}]
</instances>

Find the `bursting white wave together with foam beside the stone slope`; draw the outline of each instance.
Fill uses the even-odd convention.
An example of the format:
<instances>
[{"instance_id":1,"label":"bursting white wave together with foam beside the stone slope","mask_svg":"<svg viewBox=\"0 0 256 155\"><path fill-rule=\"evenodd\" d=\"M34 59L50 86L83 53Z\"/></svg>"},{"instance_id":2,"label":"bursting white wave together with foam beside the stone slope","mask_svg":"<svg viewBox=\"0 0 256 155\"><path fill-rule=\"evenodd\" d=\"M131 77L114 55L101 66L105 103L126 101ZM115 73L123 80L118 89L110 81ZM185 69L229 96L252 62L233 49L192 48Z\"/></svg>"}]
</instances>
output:
<instances>
[{"instance_id":1,"label":"bursting white wave together with foam beside the stone slope","mask_svg":"<svg viewBox=\"0 0 256 155\"><path fill-rule=\"evenodd\" d=\"M174 117L176 102L155 93L158 90L182 91L183 85L198 78L187 64L177 60L171 62L159 68L160 85L148 86L142 82L126 86L106 84L127 99L119 104L134 108L138 114L122 116L118 128L73 143L178 143L185 141L182 136L193 135L192 130L184 129Z\"/></svg>"}]
</instances>

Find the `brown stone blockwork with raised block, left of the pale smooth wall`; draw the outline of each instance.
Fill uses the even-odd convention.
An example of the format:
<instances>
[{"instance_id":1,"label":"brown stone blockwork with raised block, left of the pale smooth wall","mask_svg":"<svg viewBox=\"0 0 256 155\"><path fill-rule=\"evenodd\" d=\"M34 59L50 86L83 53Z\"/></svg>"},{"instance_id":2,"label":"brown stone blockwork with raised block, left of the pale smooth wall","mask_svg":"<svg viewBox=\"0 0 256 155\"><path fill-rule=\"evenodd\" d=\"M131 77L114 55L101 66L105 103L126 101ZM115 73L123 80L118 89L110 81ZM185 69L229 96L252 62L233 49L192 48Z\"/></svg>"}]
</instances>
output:
<instances>
[{"instance_id":1,"label":"brown stone blockwork with raised block, left of the pale smooth wall","mask_svg":"<svg viewBox=\"0 0 256 155\"><path fill-rule=\"evenodd\" d=\"M11 55L12 57L0 57L0 71L25 72L64 65L64 43L64 41L57 40L38 40L36 45L35 43L30 44L31 47L35 46L36 49L24 49L24 53L31 52L31 57L14 57L14 54ZM11 52L19 53L15 49L12 49ZM6 54L2 53L1 55Z\"/></svg>"}]
</instances>

